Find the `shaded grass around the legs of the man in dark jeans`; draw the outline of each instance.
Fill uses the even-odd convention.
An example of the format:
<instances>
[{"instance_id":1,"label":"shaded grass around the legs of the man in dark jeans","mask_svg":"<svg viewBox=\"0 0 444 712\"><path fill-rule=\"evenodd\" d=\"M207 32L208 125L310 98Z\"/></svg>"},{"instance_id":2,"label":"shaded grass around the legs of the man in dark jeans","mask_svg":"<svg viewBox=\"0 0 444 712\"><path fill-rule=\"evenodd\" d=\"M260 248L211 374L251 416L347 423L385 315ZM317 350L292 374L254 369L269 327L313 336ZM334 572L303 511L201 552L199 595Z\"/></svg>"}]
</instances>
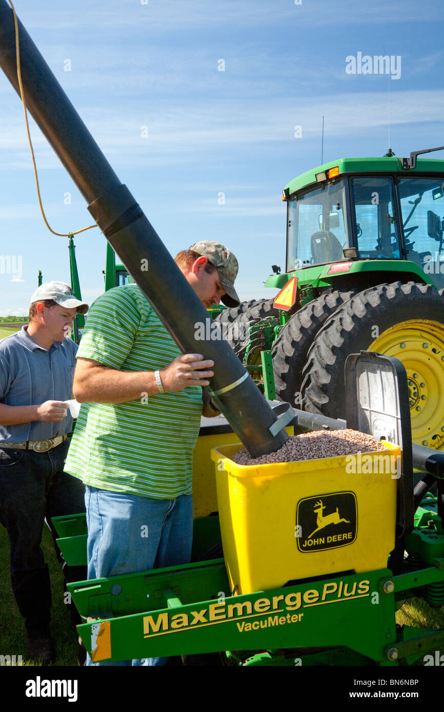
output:
<instances>
[{"instance_id":1,"label":"shaded grass around the legs of the man in dark jeans","mask_svg":"<svg viewBox=\"0 0 444 712\"><path fill-rule=\"evenodd\" d=\"M41 548L49 567L53 605L51 609L51 634L56 646L56 661L53 666L77 666L77 638L71 627L71 618L63 603L63 574L53 548L53 538L46 525L43 527ZM24 621L11 589L9 577L9 538L4 527L0 528L0 654L21 655L24 665L35 665L26 655L26 632Z\"/></svg>"}]
</instances>

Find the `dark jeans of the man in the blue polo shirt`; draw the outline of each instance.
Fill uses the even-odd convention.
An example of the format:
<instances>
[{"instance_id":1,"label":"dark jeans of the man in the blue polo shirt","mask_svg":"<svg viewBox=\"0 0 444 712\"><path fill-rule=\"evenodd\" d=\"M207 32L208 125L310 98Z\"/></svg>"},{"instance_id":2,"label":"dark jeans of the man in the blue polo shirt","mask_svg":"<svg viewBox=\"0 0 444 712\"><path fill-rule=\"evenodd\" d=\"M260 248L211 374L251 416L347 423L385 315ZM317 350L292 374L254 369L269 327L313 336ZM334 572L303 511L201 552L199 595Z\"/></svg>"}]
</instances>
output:
<instances>
[{"instance_id":1,"label":"dark jeans of the man in the blue polo shirt","mask_svg":"<svg viewBox=\"0 0 444 712\"><path fill-rule=\"evenodd\" d=\"M83 511L83 483L63 471L68 446L68 440L47 452L0 446L0 523L11 543L12 590L31 636L49 632L51 585L40 548L45 518L65 580L78 581L86 575L85 567L66 566L51 523L51 517ZM73 621L81 622L73 604L70 613Z\"/></svg>"}]
</instances>

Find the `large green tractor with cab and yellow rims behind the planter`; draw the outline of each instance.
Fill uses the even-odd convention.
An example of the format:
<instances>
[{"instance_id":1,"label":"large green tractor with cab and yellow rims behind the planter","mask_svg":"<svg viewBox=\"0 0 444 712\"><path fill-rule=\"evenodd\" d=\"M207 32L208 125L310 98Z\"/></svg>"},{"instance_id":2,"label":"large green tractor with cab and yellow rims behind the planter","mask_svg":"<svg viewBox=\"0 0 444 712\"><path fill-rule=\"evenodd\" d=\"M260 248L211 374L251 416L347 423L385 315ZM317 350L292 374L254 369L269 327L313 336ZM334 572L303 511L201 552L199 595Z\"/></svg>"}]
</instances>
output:
<instances>
[{"instance_id":1,"label":"large green tractor with cab and yellow rims behind the planter","mask_svg":"<svg viewBox=\"0 0 444 712\"><path fill-rule=\"evenodd\" d=\"M394 356L413 441L444 448L444 160L417 159L442 148L341 159L284 188L286 269L274 265L266 283L280 298L215 317L266 394L271 350L279 399L341 417L346 357Z\"/></svg>"}]
</instances>

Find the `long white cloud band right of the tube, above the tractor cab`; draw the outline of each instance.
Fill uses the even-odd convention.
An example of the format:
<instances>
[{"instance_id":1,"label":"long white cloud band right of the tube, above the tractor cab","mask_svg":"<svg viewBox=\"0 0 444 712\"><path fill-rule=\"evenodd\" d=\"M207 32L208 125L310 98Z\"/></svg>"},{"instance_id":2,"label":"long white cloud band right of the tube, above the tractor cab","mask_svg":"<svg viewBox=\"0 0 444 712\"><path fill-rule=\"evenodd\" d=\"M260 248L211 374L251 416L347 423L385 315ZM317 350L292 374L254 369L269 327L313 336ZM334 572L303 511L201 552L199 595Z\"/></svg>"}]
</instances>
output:
<instances>
[{"instance_id":1,"label":"long white cloud band right of the tube, above the tractor cab","mask_svg":"<svg viewBox=\"0 0 444 712\"><path fill-rule=\"evenodd\" d=\"M351 92L305 100L281 98L270 105L262 100L201 101L172 110L158 104L153 116L144 116L133 109L132 117L120 111L110 111L105 123L89 117L88 126L108 155L118 155L123 149L140 161L150 162L163 157L190 152L207 152L239 145L270 145L291 142L294 146L304 138L319 136L321 117L326 114L329 135L362 132L366 127L386 124L385 91ZM442 90L396 91L391 101L391 122L411 124L435 122L444 112ZM148 138L140 137L140 125L148 125ZM301 125L302 139L294 139L294 126Z\"/></svg>"}]
</instances>

